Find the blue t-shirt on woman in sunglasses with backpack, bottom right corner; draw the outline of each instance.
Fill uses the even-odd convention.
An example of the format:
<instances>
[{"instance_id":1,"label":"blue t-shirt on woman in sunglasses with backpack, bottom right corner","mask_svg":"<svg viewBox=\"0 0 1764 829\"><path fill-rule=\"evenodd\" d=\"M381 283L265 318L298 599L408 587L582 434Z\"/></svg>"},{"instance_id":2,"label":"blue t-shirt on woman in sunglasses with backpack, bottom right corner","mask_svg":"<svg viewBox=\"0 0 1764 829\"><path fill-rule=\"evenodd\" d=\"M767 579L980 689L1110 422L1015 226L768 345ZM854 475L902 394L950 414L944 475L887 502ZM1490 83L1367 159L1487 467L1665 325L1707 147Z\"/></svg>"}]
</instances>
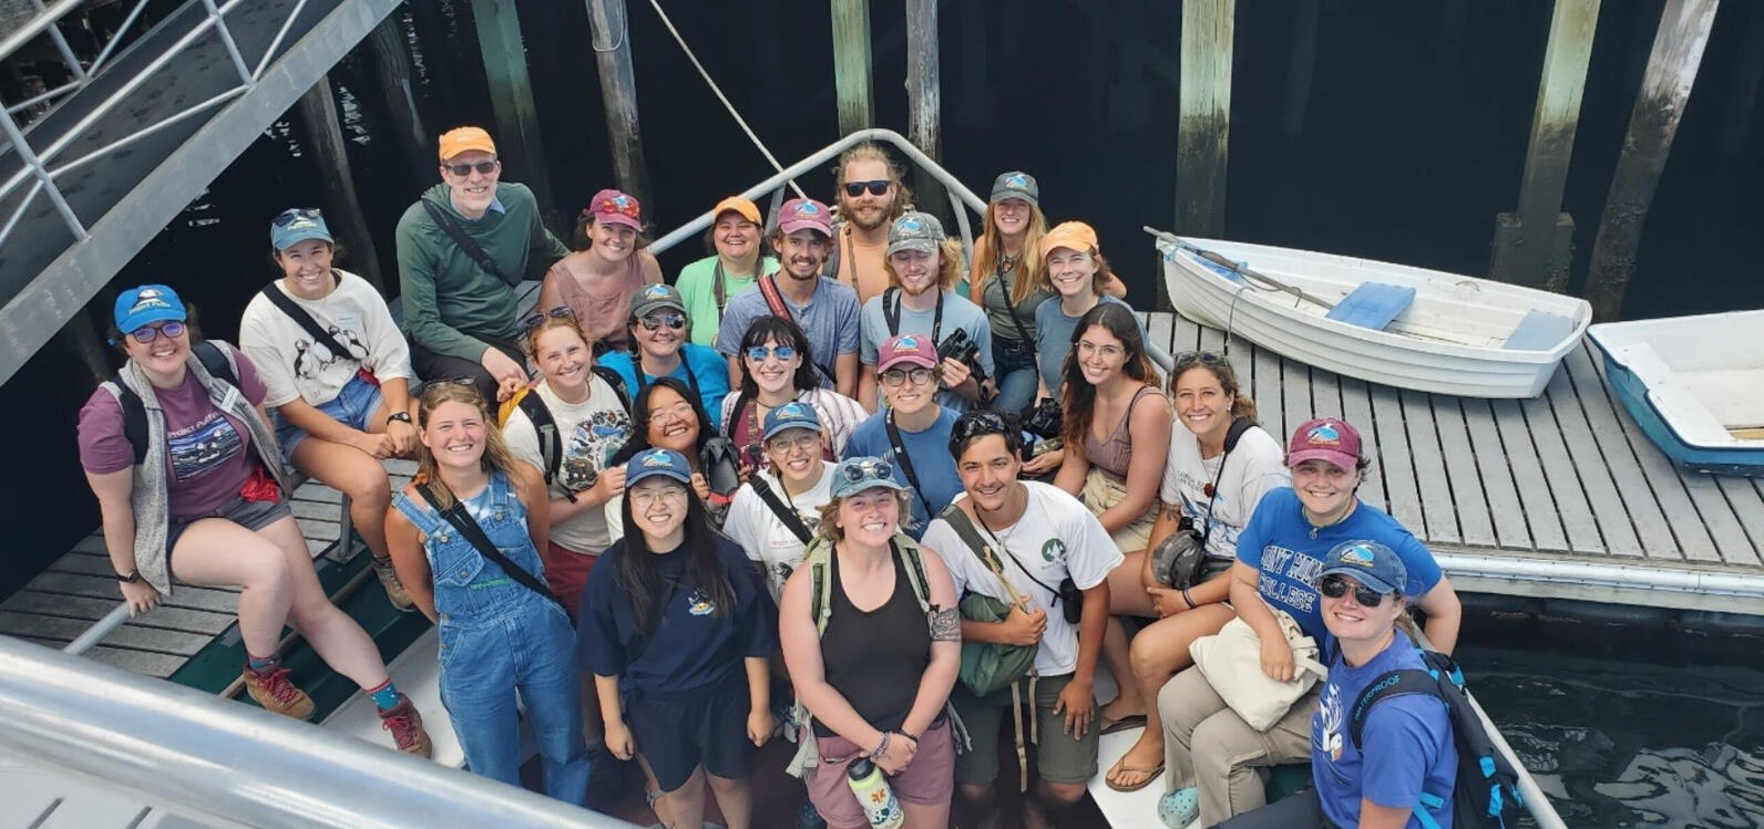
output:
<instances>
[{"instance_id":1,"label":"blue t-shirt on woman in sunglasses with backpack, bottom right corner","mask_svg":"<svg viewBox=\"0 0 1764 829\"><path fill-rule=\"evenodd\" d=\"M1443 801L1427 808L1441 829L1452 829L1452 785L1457 778L1457 746L1445 700L1404 693L1379 700L1360 728L1362 748L1353 746L1348 716L1365 686L1392 670L1425 670L1415 642L1397 631L1395 642L1371 661L1351 667L1341 654L1328 667L1318 711L1311 716L1311 780L1318 787L1323 815L1334 825L1360 825L1360 797L1379 806L1415 808L1422 794ZM1409 815L1409 829L1422 824Z\"/></svg>"}]
</instances>

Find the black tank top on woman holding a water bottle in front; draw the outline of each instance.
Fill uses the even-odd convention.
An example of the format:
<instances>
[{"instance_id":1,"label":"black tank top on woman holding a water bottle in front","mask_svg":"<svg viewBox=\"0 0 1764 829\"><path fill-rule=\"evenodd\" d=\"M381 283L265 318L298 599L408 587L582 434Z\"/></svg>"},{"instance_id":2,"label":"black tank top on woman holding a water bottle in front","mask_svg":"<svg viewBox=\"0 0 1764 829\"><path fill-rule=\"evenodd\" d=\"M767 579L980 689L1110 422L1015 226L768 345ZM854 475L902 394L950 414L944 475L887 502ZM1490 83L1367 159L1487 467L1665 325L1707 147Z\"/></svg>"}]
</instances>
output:
<instances>
[{"instance_id":1,"label":"black tank top on woman holding a water bottle in front","mask_svg":"<svg viewBox=\"0 0 1764 829\"><path fill-rule=\"evenodd\" d=\"M864 612L845 598L840 554L829 556L831 616L820 633L827 684L878 730L900 730L912 700L919 697L919 677L931 663L930 623L912 594L907 564L900 556L893 557L894 594L882 607ZM815 720L815 734L831 737L833 730Z\"/></svg>"}]
</instances>

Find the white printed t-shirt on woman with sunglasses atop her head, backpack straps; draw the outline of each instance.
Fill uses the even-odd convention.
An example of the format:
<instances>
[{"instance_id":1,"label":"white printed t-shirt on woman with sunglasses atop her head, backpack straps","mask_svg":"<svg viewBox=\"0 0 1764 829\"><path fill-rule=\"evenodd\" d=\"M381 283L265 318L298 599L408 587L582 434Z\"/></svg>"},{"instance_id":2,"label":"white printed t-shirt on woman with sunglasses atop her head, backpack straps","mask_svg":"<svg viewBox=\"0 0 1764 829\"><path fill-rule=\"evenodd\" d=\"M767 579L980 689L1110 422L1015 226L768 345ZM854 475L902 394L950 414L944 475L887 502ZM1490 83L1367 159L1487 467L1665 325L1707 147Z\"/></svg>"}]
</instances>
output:
<instances>
[{"instance_id":1,"label":"white printed t-shirt on woman with sunglasses atop her head, backpack straps","mask_svg":"<svg viewBox=\"0 0 1764 829\"><path fill-rule=\"evenodd\" d=\"M545 400L563 441L563 462L550 483L552 499L593 487L612 453L619 452L632 437L632 416L619 406L619 393L598 374L589 374L587 383L587 400L579 404L557 399L550 383L540 383L538 388L527 392ZM513 452L515 457L533 464L542 473L545 471L540 436L526 411L517 407L508 416L508 423L503 423L503 441L508 443L508 452ZM552 524L550 538L563 549L589 556L598 556L612 543L605 513L596 506L575 513L570 520Z\"/></svg>"}]
</instances>

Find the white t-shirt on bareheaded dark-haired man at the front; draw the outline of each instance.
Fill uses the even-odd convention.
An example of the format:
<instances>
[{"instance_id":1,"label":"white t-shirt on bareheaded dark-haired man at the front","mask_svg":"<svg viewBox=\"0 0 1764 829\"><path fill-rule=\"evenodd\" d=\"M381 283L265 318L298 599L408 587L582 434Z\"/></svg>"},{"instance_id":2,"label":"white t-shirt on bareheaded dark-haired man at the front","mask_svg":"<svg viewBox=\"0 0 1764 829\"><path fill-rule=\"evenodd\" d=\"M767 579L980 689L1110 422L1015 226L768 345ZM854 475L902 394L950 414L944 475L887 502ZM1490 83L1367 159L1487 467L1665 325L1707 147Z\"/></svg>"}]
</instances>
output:
<instances>
[{"instance_id":1,"label":"white t-shirt on bareheaded dark-haired man at the front","mask_svg":"<svg viewBox=\"0 0 1764 829\"><path fill-rule=\"evenodd\" d=\"M991 527L997 540L1004 543L1007 554L1023 564L1021 568L1004 561L1005 579L1018 594L1028 600L1030 610L1048 612L1048 630L1041 635L1041 649L1035 653L1035 674L1064 676L1078 670L1078 626L1065 621L1065 612L1053 603L1048 589L1058 589L1067 577L1078 589L1090 589L1108 579L1110 570L1120 564L1122 554L1110 540L1102 522L1065 490L1039 483L1021 482L1028 489L1028 508L1023 517L1009 527ZM961 494L956 501L968 497ZM991 541L986 529L974 524L981 538ZM1000 601L1011 601L1011 594L998 584L991 568L961 541L956 529L947 520L937 519L924 529L921 545L937 550L949 566L949 575L956 582L956 594L963 591L981 593ZM997 545L995 545L997 549ZM1041 584L1023 575L1028 568Z\"/></svg>"}]
</instances>

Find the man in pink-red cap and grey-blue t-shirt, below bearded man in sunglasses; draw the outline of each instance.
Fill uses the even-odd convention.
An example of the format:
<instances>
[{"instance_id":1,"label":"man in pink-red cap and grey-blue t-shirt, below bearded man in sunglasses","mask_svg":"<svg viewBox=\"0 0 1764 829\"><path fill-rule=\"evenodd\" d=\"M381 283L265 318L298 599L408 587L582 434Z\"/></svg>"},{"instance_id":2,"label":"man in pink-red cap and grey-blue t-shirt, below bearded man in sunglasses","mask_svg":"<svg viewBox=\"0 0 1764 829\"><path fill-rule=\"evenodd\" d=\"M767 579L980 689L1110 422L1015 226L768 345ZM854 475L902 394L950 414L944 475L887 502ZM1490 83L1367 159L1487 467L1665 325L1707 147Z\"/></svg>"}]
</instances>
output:
<instances>
[{"instance_id":1,"label":"man in pink-red cap and grey-blue t-shirt, below bearded man in sunglasses","mask_svg":"<svg viewBox=\"0 0 1764 829\"><path fill-rule=\"evenodd\" d=\"M815 199L790 199L778 212L771 243L781 266L723 307L716 351L729 358L729 388L741 388L741 337L762 316L790 317L808 335L822 388L857 393L857 293L822 277L833 238L833 212Z\"/></svg>"}]
</instances>

